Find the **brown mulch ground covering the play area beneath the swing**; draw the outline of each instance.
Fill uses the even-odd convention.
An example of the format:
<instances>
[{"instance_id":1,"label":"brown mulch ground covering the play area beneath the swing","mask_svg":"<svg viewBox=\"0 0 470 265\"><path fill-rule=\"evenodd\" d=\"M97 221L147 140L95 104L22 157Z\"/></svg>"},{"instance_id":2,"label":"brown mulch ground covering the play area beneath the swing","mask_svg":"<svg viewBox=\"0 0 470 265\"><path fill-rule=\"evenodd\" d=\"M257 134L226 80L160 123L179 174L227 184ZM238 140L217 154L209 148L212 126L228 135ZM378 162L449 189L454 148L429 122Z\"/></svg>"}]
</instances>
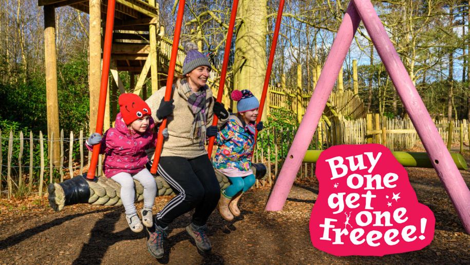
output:
<instances>
[{"instance_id":1,"label":"brown mulch ground covering the play area beneath the swing","mask_svg":"<svg viewBox=\"0 0 470 265\"><path fill-rule=\"evenodd\" d=\"M470 157L468 154L466 158ZM154 259L145 234L127 226L122 206L66 206L56 213L46 197L0 200L0 264L325 264L325 263L470 263L466 234L434 169L407 168L420 203L433 210L433 242L420 251L383 257L336 257L315 249L309 219L318 193L316 179L298 180L283 211L264 210L269 189L252 189L240 200L242 216L224 221L215 211L209 219L210 254L199 253L184 227L190 214L171 225L166 255ZM461 171L470 186L470 172ZM158 197L156 209L171 197ZM141 207L141 204L138 204Z\"/></svg>"}]
</instances>

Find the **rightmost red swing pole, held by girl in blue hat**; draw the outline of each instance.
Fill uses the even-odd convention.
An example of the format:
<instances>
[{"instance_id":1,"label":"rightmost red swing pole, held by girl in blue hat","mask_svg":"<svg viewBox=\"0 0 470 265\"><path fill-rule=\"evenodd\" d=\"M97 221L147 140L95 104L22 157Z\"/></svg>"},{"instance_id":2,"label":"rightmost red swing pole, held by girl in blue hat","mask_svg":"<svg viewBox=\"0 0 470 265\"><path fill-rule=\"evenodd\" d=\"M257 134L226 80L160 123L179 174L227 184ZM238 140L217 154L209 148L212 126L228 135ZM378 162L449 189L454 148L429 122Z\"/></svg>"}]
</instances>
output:
<instances>
[{"instance_id":1,"label":"rightmost red swing pole, held by girl in blue hat","mask_svg":"<svg viewBox=\"0 0 470 265\"><path fill-rule=\"evenodd\" d=\"M277 11L276 26L274 28L273 42L271 43L271 51L269 54L268 68L266 69L265 84L263 86L263 91L261 93L261 99L259 100L259 109L258 117L256 118L256 123L261 120L263 109L265 107L266 95L268 94L269 79L271 78L271 70L273 68L274 54L276 52L277 46L277 37L279 36L280 22L283 19L283 10L284 10L284 0L279 1L279 10ZM255 144L256 139L258 138L258 130L255 133Z\"/></svg>"}]
</instances>

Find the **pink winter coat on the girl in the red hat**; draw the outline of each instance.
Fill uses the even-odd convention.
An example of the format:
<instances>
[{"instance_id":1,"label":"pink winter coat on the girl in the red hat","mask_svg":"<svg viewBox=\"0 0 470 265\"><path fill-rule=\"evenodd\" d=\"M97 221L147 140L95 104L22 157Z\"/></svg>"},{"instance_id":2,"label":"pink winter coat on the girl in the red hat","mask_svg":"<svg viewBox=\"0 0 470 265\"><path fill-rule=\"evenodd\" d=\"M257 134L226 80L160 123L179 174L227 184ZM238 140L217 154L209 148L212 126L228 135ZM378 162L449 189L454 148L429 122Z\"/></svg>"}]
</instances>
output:
<instances>
[{"instance_id":1,"label":"pink winter coat on the girl in the red hat","mask_svg":"<svg viewBox=\"0 0 470 265\"><path fill-rule=\"evenodd\" d=\"M107 178L121 172L134 174L145 168L148 162L145 150L155 147L157 139L157 134L152 133L154 127L154 120L150 117L147 131L136 133L127 128L121 113L116 116L115 128L107 130L101 139L100 154L106 154L103 170ZM88 144L86 147L93 150Z\"/></svg>"}]
</instances>

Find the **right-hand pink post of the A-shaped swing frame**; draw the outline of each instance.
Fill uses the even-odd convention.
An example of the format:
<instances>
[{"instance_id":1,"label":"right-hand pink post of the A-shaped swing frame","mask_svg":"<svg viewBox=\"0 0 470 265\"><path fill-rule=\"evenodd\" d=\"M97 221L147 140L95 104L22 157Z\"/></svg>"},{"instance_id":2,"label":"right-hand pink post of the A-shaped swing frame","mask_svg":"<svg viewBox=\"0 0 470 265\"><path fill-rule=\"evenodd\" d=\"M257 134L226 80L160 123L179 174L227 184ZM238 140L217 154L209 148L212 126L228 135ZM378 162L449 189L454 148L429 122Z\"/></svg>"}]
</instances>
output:
<instances>
[{"instance_id":1,"label":"right-hand pink post of the A-shaped swing frame","mask_svg":"<svg viewBox=\"0 0 470 265\"><path fill-rule=\"evenodd\" d=\"M369 0L353 0L450 200L470 234L470 191Z\"/></svg>"}]
</instances>

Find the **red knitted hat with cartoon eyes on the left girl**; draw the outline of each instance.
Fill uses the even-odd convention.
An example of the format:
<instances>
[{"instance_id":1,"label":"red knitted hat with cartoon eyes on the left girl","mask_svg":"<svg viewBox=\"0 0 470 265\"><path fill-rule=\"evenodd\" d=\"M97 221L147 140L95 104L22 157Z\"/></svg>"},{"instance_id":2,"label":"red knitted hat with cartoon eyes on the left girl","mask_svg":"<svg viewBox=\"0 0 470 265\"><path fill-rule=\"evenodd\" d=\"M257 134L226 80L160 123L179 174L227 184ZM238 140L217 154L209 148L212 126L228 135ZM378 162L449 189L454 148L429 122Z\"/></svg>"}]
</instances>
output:
<instances>
[{"instance_id":1,"label":"red knitted hat with cartoon eyes on the left girl","mask_svg":"<svg viewBox=\"0 0 470 265\"><path fill-rule=\"evenodd\" d=\"M126 125L145 115L152 115L147 103L133 93L124 93L119 96L119 108Z\"/></svg>"}]
</instances>

